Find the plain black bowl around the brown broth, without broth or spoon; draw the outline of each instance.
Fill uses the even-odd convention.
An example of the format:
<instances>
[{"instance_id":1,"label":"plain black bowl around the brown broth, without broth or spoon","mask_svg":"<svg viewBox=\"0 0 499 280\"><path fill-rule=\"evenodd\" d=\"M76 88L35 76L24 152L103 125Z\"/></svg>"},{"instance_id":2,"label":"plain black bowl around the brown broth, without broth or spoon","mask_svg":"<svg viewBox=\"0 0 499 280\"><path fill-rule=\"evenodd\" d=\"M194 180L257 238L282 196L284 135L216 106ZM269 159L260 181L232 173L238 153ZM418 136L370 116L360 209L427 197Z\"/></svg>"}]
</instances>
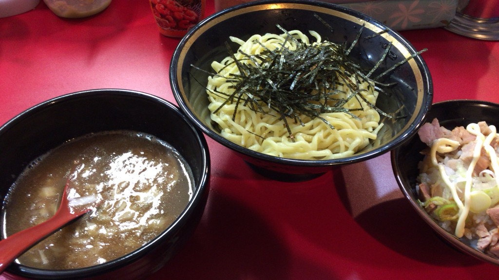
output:
<instances>
[{"instance_id":1,"label":"plain black bowl around the brown broth, without broth or spoon","mask_svg":"<svg viewBox=\"0 0 499 280\"><path fill-rule=\"evenodd\" d=\"M63 142L89 133L134 130L173 145L194 173L191 201L164 232L116 260L82 269L50 271L11 264L7 273L35 279L139 279L160 269L189 238L204 211L210 157L203 134L177 107L128 90L72 93L34 106L0 128L0 197L26 165ZM0 225L1 227L1 225Z\"/></svg>"}]
</instances>

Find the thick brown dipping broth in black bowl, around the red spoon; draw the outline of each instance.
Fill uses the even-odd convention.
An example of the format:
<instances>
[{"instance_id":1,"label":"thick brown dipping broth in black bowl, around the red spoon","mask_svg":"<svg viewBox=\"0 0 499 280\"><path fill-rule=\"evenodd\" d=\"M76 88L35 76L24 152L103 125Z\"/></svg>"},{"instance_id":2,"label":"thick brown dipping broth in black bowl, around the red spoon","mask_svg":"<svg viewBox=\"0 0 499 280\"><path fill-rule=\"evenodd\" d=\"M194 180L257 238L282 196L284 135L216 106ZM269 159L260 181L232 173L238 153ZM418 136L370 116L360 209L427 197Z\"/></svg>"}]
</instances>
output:
<instances>
[{"instance_id":1,"label":"thick brown dipping broth in black bowl, around the red spoon","mask_svg":"<svg viewBox=\"0 0 499 280\"><path fill-rule=\"evenodd\" d=\"M158 236L192 196L190 168L168 143L130 131L92 134L26 167L4 201L2 235L51 217L68 177L70 196L93 196L97 206L24 253L20 264L63 270L114 260Z\"/></svg>"}]
</instances>

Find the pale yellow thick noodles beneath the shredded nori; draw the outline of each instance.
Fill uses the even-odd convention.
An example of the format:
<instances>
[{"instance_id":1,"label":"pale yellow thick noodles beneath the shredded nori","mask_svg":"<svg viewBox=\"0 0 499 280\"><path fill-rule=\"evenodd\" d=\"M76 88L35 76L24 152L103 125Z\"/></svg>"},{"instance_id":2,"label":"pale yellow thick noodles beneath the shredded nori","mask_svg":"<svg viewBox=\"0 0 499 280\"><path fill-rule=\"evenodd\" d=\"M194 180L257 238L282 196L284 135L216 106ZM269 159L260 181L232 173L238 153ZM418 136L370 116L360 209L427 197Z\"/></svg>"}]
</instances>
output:
<instances>
[{"instance_id":1,"label":"pale yellow thick noodles beneath the shredded nori","mask_svg":"<svg viewBox=\"0 0 499 280\"><path fill-rule=\"evenodd\" d=\"M288 34L296 40L286 39ZM297 42L308 45L322 42L319 34L314 31L310 31L310 34L315 42L310 43L308 37L298 30L281 35L270 33L253 35L247 41L236 37L230 39L240 45L234 57L241 60L241 63L250 64L253 62L245 54L257 55L266 49L275 50L281 46L295 50ZM286 123L272 108L262 105L265 109L268 108L268 111L257 112L258 110L245 106L244 103L227 101L227 96L235 91L234 83L227 78L240 74L233 58L228 56L220 62L214 61L211 66L217 72L217 75L208 78L207 85L211 119L219 125L224 138L251 150L278 157L305 160L346 157L367 146L370 140L375 140L377 132L382 127L380 115L372 106L362 98L350 98L343 105L343 108L348 109L348 113L322 113L319 115L320 118L301 115L301 123L287 118L292 136L290 137ZM357 94L361 94L370 104L376 104L378 92L374 90L374 84L358 76L349 77L353 84L359 86L360 91ZM331 93L332 98L328 99L328 105L338 100L345 100L353 94L345 84L337 83L335 88L338 91Z\"/></svg>"}]
</instances>

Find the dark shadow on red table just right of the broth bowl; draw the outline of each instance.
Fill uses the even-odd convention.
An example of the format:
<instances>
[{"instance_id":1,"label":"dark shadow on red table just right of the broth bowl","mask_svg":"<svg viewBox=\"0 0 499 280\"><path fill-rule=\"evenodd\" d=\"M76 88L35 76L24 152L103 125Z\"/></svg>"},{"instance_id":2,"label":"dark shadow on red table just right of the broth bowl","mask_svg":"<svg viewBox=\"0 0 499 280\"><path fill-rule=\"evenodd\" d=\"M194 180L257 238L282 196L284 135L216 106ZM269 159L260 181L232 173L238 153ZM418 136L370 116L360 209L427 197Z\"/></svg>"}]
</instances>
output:
<instances>
[{"instance_id":1,"label":"dark shadow on red table just right of the broth bowl","mask_svg":"<svg viewBox=\"0 0 499 280\"><path fill-rule=\"evenodd\" d=\"M246 187L231 179L224 184ZM194 236L151 279L285 279L288 269L285 246L268 223L215 187Z\"/></svg>"}]
</instances>

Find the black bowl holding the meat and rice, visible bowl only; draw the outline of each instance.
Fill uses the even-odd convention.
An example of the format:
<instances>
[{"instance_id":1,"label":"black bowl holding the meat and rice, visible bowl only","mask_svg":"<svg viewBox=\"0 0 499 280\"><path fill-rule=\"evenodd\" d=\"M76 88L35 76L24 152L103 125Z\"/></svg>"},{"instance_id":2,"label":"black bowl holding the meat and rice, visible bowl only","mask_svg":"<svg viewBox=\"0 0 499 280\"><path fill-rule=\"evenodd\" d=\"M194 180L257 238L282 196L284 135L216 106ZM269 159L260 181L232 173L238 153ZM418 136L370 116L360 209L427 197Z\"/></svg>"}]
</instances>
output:
<instances>
[{"instance_id":1,"label":"black bowl holding the meat and rice, visible bowl only","mask_svg":"<svg viewBox=\"0 0 499 280\"><path fill-rule=\"evenodd\" d=\"M455 127L466 126L470 123L486 121L489 125L499 127L499 104L476 100L452 100L433 104L428 113L428 122L437 118L441 126L452 130ZM480 260L499 265L499 260L471 247L466 238L458 239L453 234L441 228L418 203L416 177L419 174L418 162L423 159L420 152L427 147L415 135L400 147L391 152L393 173L402 193L419 216L444 241Z\"/></svg>"}]
</instances>

